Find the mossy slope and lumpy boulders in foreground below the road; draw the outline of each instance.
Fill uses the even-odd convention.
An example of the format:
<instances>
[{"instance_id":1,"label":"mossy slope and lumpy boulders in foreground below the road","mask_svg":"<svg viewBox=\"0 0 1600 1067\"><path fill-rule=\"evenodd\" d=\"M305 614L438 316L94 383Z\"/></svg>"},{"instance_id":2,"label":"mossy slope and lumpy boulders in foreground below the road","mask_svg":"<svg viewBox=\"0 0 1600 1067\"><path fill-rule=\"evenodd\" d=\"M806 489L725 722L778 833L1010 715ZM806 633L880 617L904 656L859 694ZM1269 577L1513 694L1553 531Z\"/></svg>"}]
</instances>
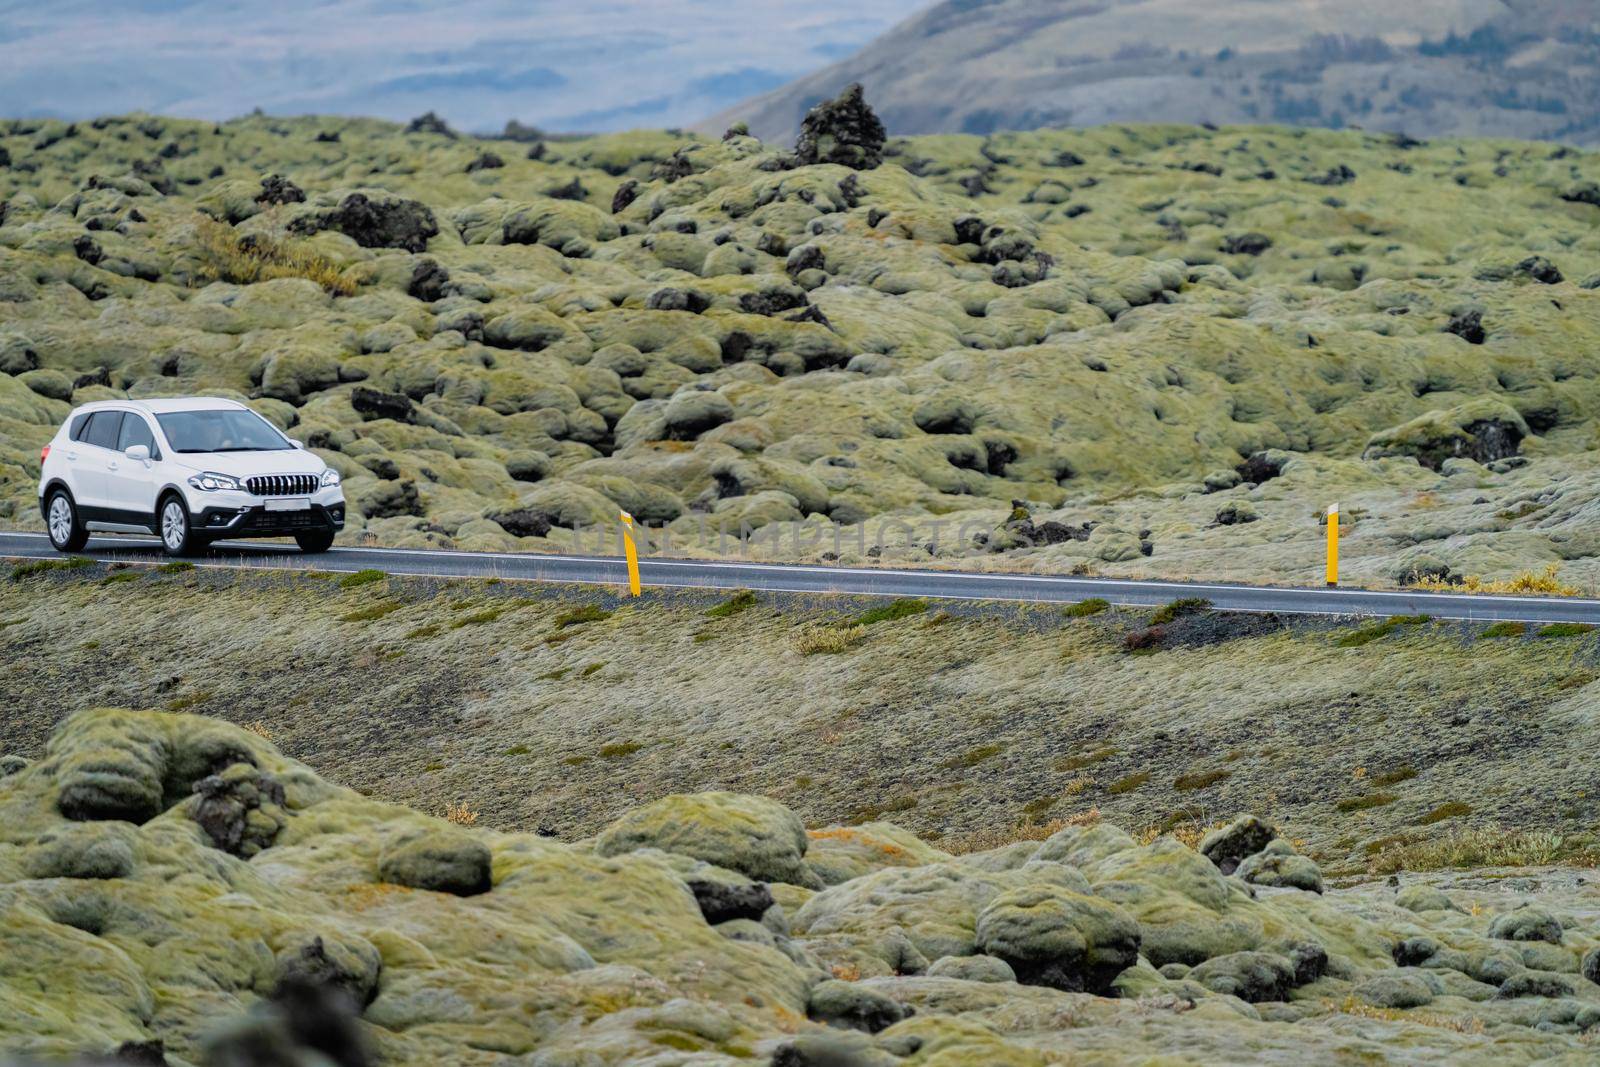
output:
<instances>
[{"instance_id":1,"label":"mossy slope and lumpy boulders in foreground below the road","mask_svg":"<svg viewBox=\"0 0 1600 1067\"><path fill-rule=\"evenodd\" d=\"M1333 633L1306 627L1229 637L1227 619L1203 617L1190 637L1210 645L1130 656L1109 640L1134 622L1128 617L1014 619L973 608L942 622L883 621L854 651L802 656L789 645L792 621L781 614L813 608L794 601L707 617L704 603L654 597L597 617L592 598L547 587L523 600L498 585L379 581L328 589L310 577L91 566L13 573L0 585L6 616L22 613L6 617L0 640L29 648L3 659L8 691L26 693L27 721L18 723L13 701L3 726L22 725L30 734L21 742L0 739L0 1062L1592 1061L1600 1030L1600 897L1587 830L1592 801L1573 785L1594 773L1562 749L1592 752L1573 729L1582 717L1573 701L1584 699L1594 673L1586 672L1566 696L1560 686L1541 688L1526 705L1494 689L1496 675L1509 686L1517 670L1550 678L1555 661L1592 659L1592 635L1506 640L1438 627L1419 637L1418 627L1427 624L1414 624L1402 627L1408 633L1339 646ZM475 601L470 611L467 600ZM290 601L310 625L294 625L285 611ZM400 606L374 611L384 603ZM504 622L485 617L494 605ZM365 621L333 614L363 606ZM584 606L590 613L582 621L563 624L566 613ZM157 622L178 611L186 625ZM144 630L150 640L126 640L130 613L150 621ZM427 617L443 624L451 616L454 627L416 632L424 624L405 635L405 627ZM42 648L37 637L59 632L64 621L88 638L83 646L51 640ZM216 657L214 635L243 630L259 638L251 662L274 667L253 677L256 688L243 699L234 688L200 696L194 688L200 681L235 685L232 669L216 677L200 672L227 662ZM450 630L458 638L446 637ZM611 787L590 784L576 793L568 787L589 774L587 763L554 757L584 749L590 737L525 733L554 723L518 713L512 689L520 688L522 699L547 696L557 707L629 707L632 701L618 697L630 672L643 683L650 669L642 661L546 670L534 681L538 667L525 670L526 659L502 651L490 669L462 678L477 691L456 691L450 673L421 667L445 656L456 670L477 670L482 661L450 646L470 645L482 654L562 630L578 632L558 645L546 640L536 656L614 657L613 649L638 641L670 649L683 667L670 686L675 705L630 729L683 729L694 718L704 729L672 741L629 733L637 744L584 752L586 761L606 765ZM696 630L709 630L710 640L688 640ZM997 640L1006 632L1021 637L1021 648ZM205 656L178 648L200 633L213 635ZM82 688L67 689L53 675L102 640L139 659L109 681L126 686L126 704L147 705L144 686L166 672L173 681L154 689L166 707L259 718L232 725L85 704ZM1488 659L1467 664L1451 648L1458 640L1494 648ZM784 701L762 691L763 680L698 670L698 659L720 657L730 645L742 646L746 664L765 667L766 681L810 673L810 691L824 694L843 694L846 673L882 680L874 667L891 649L901 667L917 649L925 659L955 657L934 672L952 686L942 710L950 725L986 739L1021 712L995 705L987 697L997 689L987 686L986 699L965 710L952 704L954 689L976 681L970 672L963 677L960 657L987 656L982 670L1005 670L1008 678L1022 661L1050 673L1061 653L1074 672L1086 661L1115 657L1122 665L1107 673L1120 680L1109 689L1080 675L1085 685L1074 701L1050 713L1077 715L1088 737L1107 718L1126 718L1133 729L1152 731L1154 741L1158 720L1149 710L1178 697L1190 721L1203 718L1213 750L1240 745L1240 758L1227 766L1251 787L1234 790L1229 774L1216 769L1192 769L1173 787L1146 784L1138 774L1109 781L1102 768L1120 768L1120 752L1106 753L1099 739L1085 737L1088 744L1061 749L1078 753L1062 757L1077 758L1075 768L1051 771L1053 789L1064 793L1061 806L1032 806L1040 821L1019 825L1010 819L1013 805L1037 787L1027 763L941 744L925 755L944 760L942 781L922 795L942 803L970 790L962 813L987 833L930 829L918 837L896 825L926 822L923 806L909 803L880 805L840 824L810 813L861 803L859 768L874 763L853 757L856 773L846 784L838 776L848 771L818 752L866 750L872 742L858 734L870 733L886 745L883 763L891 763L901 742L883 717L912 712L914 701L858 705L830 726L845 739L830 741L798 704L792 718L774 713ZM354 646L368 659L331 669L333 657ZM1291 729L1291 717L1234 717L1232 697L1214 699L1238 685L1237 669L1221 661L1254 662L1261 677L1285 653L1333 656L1346 661L1334 675L1360 677L1330 677L1330 689L1371 685L1370 699L1301 693L1307 745L1341 744L1318 726L1317 717L1325 717L1320 721L1330 725L1360 723L1378 749L1370 760L1349 749L1307 763L1328 784L1330 798L1331 779L1344 779L1336 790L1341 801L1307 821L1320 830L1312 843L1270 817L1275 806L1309 814L1307 781L1296 776L1299 742L1253 733ZM298 669L277 669L283 662ZM352 669L379 685L368 685L360 704L347 707L336 678ZM517 677L507 680L507 669ZM1474 672L1488 681L1475 696L1467 693ZM72 669L70 677L82 683L93 673ZM405 705L382 685L386 677L397 681L395 673L446 685ZM1405 689L1384 693L1387 681L1408 675L1418 694L1440 680L1459 683L1461 699L1486 702L1483 713L1474 710L1466 725L1443 705L1413 707ZM1296 677L1310 680L1309 672ZM1133 697L1141 678L1149 710L1128 715L1102 704L1117 693ZM749 726L722 705L720 689L730 681L754 715ZM880 685L886 696L893 683ZM659 662L650 688L666 691ZM1283 696L1282 678L1270 691ZM1550 715L1560 709L1565 715ZM1037 737L1038 709L1027 715L1026 733ZM1386 715L1394 718L1379 729ZM499 721L483 721L490 717ZM509 723L515 731L504 729ZM1432 758L1430 750L1419 766L1400 765L1400 753L1379 734L1410 734L1418 723L1426 723L1429 745L1438 741L1454 755ZM1173 733L1174 750L1194 753L1179 736L1186 726L1160 725ZM1454 742L1445 741L1451 731ZM445 747L434 763L418 766L427 733ZM366 737L362 758L346 747L354 734ZM1523 750L1522 761L1501 763L1499 777L1456 777L1474 757L1482 768L1496 766L1485 747L1493 736L1538 737L1549 749L1539 758ZM1126 741L1117 737L1118 745ZM782 800L720 789L754 766L755 749L803 760L818 776L814 784L795 779L779 790ZM683 785L667 785L675 757L686 757ZM386 771L373 774L371 761L384 760ZM1158 769L1163 779L1171 773ZM891 774L882 768L883 777ZM512 785L515 797L491 795L494 779ZM413 785L418 781L426 784ZM1552 785L1573 809L1555 811L1531 792ZM1470 790L1470 803L1418 805L1424 797L1432 803L1440 787ZM411 789L419 793L416 808L392 801L394 792ZM1187 817L1114 821L1090 806L1101 797L1166 789L1189 797ZM978 803L979 792L1006 790L1016 800L1003 808ZM552 837L518 817L518 808L549 806L565 819L560 811L579 795L606 808L582 814L592 837ZM1259 809L1266 817L1234 819L1246 795L1251 805L1269 806ZM488 801L482 813L480 797ZM1355 849L1363 862L1354 877L1330 877L1307 854L1349 848L1326 835L1339 824L1354 841L1402 819L1408 825L1400 833L1374 849ZM1552 819L1573 830L1531 829ZM1453 829L1466 822L1475 829Z\"/></svg>"}]
</instances>

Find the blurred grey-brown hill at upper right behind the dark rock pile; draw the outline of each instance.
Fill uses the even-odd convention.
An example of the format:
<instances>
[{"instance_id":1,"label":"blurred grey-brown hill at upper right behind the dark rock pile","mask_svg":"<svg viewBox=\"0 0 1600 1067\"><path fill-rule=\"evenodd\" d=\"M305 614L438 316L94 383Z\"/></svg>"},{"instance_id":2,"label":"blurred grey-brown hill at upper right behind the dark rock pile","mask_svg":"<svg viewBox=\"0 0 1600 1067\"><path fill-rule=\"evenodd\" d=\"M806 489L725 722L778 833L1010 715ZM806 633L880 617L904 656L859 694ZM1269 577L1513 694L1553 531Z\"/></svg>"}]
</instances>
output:
<instances>
[{"instance_id":1,"label":"blurred grey-brown hill at upper right behind the dark rock pile","mask_svg":"<svg viewBox=\"0 0 1600 1067\"><path fill-rule=\"evenodd\" d=\"M850 82L896 134L1210 122L1600 142L1584 0L946 0L706 128L789 138Z\"/></svg>"}]
</instances>

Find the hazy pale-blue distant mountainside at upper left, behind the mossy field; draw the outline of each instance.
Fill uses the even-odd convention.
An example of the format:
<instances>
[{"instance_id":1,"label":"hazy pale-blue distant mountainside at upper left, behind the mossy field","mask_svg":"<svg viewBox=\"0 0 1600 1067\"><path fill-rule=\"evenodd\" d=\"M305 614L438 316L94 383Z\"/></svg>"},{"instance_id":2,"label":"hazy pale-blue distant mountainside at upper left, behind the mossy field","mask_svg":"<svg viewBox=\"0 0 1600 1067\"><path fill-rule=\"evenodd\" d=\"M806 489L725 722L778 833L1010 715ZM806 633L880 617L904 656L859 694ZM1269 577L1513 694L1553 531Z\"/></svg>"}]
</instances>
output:
<instances>
[{"instance_id":1,"label":"hazy pale-blue distant mountainside at upper left, behind the mossy field","mask_svg":"<svg viewBox=\"0 0 1600 1067\"><path fill-rule=\"evenodd\" d=\"M682 126L926 0L0 0L0 115L426 110L470 131Z\"/></svg>"}]
</instances>

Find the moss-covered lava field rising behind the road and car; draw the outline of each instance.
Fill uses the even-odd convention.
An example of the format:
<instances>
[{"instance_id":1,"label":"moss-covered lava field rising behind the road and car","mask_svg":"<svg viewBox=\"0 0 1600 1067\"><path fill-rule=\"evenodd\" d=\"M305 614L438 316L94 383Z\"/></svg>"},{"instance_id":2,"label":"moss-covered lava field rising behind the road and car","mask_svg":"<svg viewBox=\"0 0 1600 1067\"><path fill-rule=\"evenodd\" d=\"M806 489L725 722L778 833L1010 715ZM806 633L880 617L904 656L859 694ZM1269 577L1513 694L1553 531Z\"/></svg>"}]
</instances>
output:
<instances>
[{"instance_id":1,"label":"moss-covered lava field rising behind the road and car","mask_svg":"<svg viewBox=\"0 0 1600 1067\"><path fill-rule=\"evenodd\" d=\"M746 526L814 558L850 550L802 523L866 522L883 558L1306 581L1346 501L1362 581L1600 581L1589 154L1109 126L856 170L432 120L0 134L13 525L69 405L206 392L344 474L352 539L563 549L626 507L677 545Z\"/></svg>"}]
</instances>

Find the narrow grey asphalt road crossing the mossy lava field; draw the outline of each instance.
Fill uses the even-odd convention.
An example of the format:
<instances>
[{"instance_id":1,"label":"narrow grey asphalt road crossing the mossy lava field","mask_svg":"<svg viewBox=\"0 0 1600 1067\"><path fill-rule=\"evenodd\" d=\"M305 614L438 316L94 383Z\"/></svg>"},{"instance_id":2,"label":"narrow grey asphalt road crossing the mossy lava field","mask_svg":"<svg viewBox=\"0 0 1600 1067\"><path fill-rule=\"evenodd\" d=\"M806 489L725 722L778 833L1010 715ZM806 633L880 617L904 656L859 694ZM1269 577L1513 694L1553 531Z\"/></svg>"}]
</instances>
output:
<instances>
[{"instance_id":1,"label":"narrow grey asphalt road crossing the mossy lava field","mask_svg":"<svg viewBox=\"0 0 1600 1067\"><path fill-rule=\"evenodd\" d=\"M96 536L83 555L102 561L162 561L154 537ZM0 557L53 558L43 534L0 533ZM501 552L445 552L427 549L333 549L302 555L293 545L222 541L195 560L200 566L360 571L434 577L499 577L621 585L622 560L592 555L514 555ZM1600 624L1600 600L1560 597L1469 597L1430 592L1373 592L1365 589L1283 589L1208 582L1141 582L1115 577L1046 574L978 574L960 571L845 568L794 563L640 560L646 587L758 589L795 593L853 593L867 597L925 597L938 600L1003 600L1075 603L1104 597L1115 605L1155 606L1178 597L1203 597L1226 611L1290 614L1430 614L1438 619Z\"/></svg>"}]
</instances>

